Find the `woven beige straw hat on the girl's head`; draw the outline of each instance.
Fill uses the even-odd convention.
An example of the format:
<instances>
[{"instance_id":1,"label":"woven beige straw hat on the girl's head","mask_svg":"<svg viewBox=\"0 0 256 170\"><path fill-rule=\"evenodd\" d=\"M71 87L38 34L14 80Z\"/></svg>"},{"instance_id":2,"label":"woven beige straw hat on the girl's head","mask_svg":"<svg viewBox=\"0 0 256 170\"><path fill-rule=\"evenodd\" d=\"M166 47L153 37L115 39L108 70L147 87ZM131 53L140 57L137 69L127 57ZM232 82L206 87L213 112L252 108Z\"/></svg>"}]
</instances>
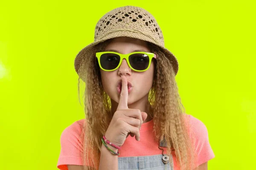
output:
<instances>
[{"instance_id":1,"label":"woven beige straw hat on the girl's head","mask_svg":"<svg viewBox=\"0 0 256 170\"><path fill-rule=\"evenodd\" d=\"M131 37L158 45L172 63L175 75L178 71L176 57L164 47L163 34L155 18L145 9L136 6L115 8L105 14L96 24L94 42L87 45L75 58L75 70L79 74L81 62L95 45L115 37Z\"/></svg>"}]
</instances>

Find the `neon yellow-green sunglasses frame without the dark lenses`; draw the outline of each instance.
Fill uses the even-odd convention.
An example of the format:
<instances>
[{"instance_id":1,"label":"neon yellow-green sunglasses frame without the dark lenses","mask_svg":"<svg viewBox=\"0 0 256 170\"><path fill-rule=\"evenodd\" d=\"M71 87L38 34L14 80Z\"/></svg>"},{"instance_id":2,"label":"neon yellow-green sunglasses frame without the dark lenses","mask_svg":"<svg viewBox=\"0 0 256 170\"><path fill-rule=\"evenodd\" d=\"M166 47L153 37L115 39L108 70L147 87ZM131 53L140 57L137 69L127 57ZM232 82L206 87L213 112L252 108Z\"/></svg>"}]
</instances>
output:
<instances>
[{"instance_id":1,"label":"neon yellow-green sunglasses frame without the dark lenses","mask_svg":"<svg viewBox=\"0 0 256 170\"><path fill-rule=\"evenodd\" d=\"M116 68L114 68L114 69L112 69L112 70L106 70L106 69L102 68L102 66L101 66L101 64L100 64L100 57L102 56L102 54L107 54L107 53L117 54L117 55L120 56L119 64L117 65ZM146 68L145 70L136 70L136 69L132 68L132 67L131 67L131 64L130 64L130 62L129 62L129 56L130 56L131 54L146 54L146 55L148 55L148 58L149 58L148 68L149 68L150 65L151 65L151 60L152 60L152 58L157 59L157 55L156 55L156 54L154 54L154 53L148 53L148 52L144 52L144 51L141 51L141 52L132 52L132 53L129 53L129 54L120 54L120 53L113 52L113 51L104 51L104 52L97 52L97 53L96 53L96 57L97 57L97 59L98 59L99 67L100 67L102 70L104 70L104 71L114 71L114 70L116 70L117 68L120 67L120 65L121 65L123 59L126 59L126 62L128 63L129 67L130 67L133 71L142 72L142 71L148 70L148 68Z\"/></svg>"}]
</instances>

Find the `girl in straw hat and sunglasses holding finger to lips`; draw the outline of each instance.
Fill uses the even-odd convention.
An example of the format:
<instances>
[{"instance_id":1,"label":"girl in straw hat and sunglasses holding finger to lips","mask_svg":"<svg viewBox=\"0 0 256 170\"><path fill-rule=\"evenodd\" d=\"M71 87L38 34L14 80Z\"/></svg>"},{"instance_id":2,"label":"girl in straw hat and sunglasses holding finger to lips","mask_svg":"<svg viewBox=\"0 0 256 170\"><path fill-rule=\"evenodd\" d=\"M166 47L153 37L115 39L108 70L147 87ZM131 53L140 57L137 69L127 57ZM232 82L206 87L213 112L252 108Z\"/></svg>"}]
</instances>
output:
<instances>
[{"instance_id":1,"label":"girl in straw hat and sunglasses holding finger to lips","mask_svg":"<svg viewBox=\"0 0 256 170\"><path fill-rule=\"evenodd\" d=\"M75 59L86 119L61 134L60 170L207 170L207 128L185 113L154 17L124 6L105 14Z\"/></svg>"}]
</instances>

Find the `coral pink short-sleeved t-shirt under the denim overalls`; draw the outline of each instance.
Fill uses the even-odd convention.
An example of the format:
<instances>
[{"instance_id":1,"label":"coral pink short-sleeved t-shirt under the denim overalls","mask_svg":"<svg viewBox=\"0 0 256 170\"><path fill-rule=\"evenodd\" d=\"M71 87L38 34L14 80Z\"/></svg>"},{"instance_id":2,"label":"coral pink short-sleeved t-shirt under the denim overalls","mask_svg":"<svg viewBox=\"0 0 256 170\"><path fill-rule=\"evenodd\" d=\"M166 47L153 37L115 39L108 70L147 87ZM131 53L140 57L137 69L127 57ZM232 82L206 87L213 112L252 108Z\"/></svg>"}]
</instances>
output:
<instances>
[{"instance_id":1,"label":"coral pink short-sleeved t-shirt under the denim overalls","mask_svg":"<svg viewBox=\"0 0 256 170\"><path fill-rule=\"evenodd\" d=\"M215 157L209 144L207 127L199 119L188 115L191 125L191 133L195 135L195 151L198 156L197 166ZM57 167L60 170L68 170L67 164L82 165L81 152L83 151L83 141L80 139L82 127L85 119L74 122L68 126L61 134L61 153L58 158ZM153 119L143 123L140 128L140 141L135 137L128 136L119 150L119 157L151 156L162 154L158 148L159 142L154 138ZM173 156L174 170L177 170L175 154Z\"/></svg>"}]
</instances>

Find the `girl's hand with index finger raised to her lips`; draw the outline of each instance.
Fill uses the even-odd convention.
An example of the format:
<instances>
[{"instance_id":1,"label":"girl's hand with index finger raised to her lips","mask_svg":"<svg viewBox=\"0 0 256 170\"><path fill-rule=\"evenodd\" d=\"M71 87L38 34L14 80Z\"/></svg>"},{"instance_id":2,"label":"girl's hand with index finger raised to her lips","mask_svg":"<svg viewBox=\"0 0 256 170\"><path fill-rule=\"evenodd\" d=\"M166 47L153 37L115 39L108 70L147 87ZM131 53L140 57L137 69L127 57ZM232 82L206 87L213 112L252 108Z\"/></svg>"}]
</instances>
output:
<instances>
[{"instance_id":1,"label":"girl's hand with index finger raised to her lips","mask_svg":"<svg viewBox=\"0 0 256 170\"><path fill-rule=\"evenodd\" d=\"M105 137L111 143L122 146L125 139L131 134L137 141L140 140L140 127L147 118L147 113L139 109L128 108L128 85L125 76L122 76L122 90L119 104L108 126Z\"/></svg>"}]
</instances>

